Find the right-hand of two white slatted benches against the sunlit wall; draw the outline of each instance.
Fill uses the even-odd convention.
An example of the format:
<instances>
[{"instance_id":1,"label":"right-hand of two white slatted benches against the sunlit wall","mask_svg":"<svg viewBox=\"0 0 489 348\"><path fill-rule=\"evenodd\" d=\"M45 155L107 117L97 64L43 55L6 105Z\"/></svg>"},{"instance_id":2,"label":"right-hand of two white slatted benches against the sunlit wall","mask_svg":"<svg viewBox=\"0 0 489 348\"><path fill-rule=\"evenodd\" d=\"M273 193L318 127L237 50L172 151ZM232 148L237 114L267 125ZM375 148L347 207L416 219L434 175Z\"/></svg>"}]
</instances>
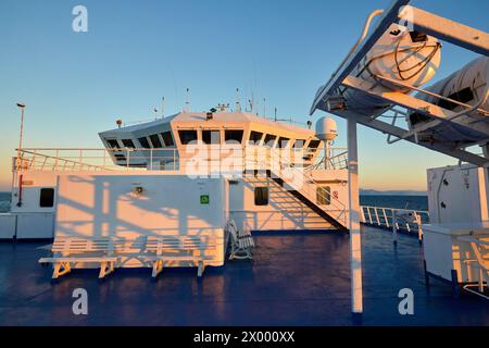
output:
<instances>
[{"instance_id":1,"label":"right-hand of two white slatted benches against the sunlit wall","mask_svg":"<svg viewBox=\"0 0 489 348\"><path fill-rule=\"evenodd\" d=\"M215 238L210 236L155 236L148 237L143 259L152 262L151 277L156 279L168 262L197 262L197 276L201 277L205 269L205 252L214 251Z\"/></svg>"}]
</instances>

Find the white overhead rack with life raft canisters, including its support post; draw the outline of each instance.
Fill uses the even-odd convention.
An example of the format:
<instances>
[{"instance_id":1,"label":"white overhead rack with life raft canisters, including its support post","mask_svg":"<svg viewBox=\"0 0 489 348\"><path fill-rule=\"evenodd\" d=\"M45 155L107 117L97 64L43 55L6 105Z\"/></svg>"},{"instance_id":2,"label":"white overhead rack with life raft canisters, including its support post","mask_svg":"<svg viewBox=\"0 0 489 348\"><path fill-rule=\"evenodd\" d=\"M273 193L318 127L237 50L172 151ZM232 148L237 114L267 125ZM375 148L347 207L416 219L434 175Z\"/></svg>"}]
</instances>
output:
<instances>
[{"instance_id":1,"label":"white overhead rack with life raft canisters, including its support post","mask_svg":"<svg viewBox=\"0 0 489 348\"><path fill-rule=\"evenodd\" d=\"M438 67L438 40L488 57L489 34L411 7L409 2L396 0L387 10L371 14L361 38L318 89L311 108L311 114L323 110L348 120L353 313L363 310L361 243L355 228L360 216L354 198L358 197L356 123L387 134L388 142L404 139L464 162L489 165L489 119L488 110L484 109L489 95L486 58L439 83L443 87L467 87L460 76L474 71L469 74L477 76L479 84L468 86L469 94L456 88L443 90L439 85L421 89ZM376 26L368 30L377 15ZM412 91L429 98L413 97ZM475 96L472 99L466 97L471 94ZM404 125L399 124L402 119ZM440 136L448 128L455 132ZM485 156L467 150L477 145Z\"/></svg>"}]
</instances>

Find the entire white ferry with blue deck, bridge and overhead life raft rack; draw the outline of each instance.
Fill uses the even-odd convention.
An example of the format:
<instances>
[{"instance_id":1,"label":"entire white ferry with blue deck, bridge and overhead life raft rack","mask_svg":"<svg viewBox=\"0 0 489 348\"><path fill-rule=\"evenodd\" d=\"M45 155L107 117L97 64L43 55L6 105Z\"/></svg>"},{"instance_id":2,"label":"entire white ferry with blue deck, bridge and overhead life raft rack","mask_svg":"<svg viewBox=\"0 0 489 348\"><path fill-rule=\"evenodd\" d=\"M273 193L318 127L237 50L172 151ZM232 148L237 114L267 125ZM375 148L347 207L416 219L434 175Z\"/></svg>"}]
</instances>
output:
<instances>
[{"instance_id":1,"label":"entire white ferry with blue deck, bridge and overhead life raft rack","mask_svg":"<svg viewBox=\"0 0 489 348\"><path fill-rule=\"evenodd\" d=\"M313 98L347 148L331 116L238 99L114 120L101 148L21 137L0 325L488 325L489 34L409 3L374 11ZM480 57L426 87L441 40ZM428 169L428 211L360 206L359 124L460 161Z\"/></svg>"}]
</instances>

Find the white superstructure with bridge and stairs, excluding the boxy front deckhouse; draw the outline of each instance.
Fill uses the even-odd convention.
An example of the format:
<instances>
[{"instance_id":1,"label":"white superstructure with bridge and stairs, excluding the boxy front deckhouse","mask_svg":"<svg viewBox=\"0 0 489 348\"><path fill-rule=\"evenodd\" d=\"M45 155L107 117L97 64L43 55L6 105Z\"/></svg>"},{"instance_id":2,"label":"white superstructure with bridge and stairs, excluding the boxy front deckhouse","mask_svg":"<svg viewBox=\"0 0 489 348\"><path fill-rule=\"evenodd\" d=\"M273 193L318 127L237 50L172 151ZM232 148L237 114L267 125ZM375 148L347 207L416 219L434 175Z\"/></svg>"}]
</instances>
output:
<instances>
[{"instance_id":1,"label":"white superstructure with bridge and stairs, excluding the boxy front deckhouse","mask_svg":"<svg viewBox=\"0 0 489 348\"><path fill-rule=\"evenodd\" d=\"M197 141L183 140L185 132ZM175 183L175 188L181 191L189 178L224 177L229 186L229 215L239 231L348 227L347 151L331 148L330 157L323 158L323 142L311 129L244 113L184 112L104 132L101 137L105 149L22 149L22 166L14 165L11 213L0 215L0 236L52 238L54 221L63 211L60 191L74 191L63 188L66 178L87 175L112 181L129 176L146 181L154 175L162 190L170 189L166 183L172 175L178 175L181 184ZM110 187L109 194L117 185ZM41 196L49 190L51 204L42 206ZM80 199L89 196L80 195ZM125 203L123 196L118 199ZM95 216L102 208L90 212ZM46 223L40 222L41 215Z\"/></svg>"}]
</instances>

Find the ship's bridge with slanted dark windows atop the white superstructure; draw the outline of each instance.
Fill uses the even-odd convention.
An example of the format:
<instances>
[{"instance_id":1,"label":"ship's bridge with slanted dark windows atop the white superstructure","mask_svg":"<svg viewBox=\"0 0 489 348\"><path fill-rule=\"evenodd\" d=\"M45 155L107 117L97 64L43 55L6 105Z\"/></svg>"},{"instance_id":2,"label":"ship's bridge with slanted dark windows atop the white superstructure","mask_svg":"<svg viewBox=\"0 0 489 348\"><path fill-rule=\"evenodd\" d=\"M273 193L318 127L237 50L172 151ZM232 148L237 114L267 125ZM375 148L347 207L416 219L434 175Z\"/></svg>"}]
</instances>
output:
<instances>
[{"instance_id":1,"label":"ship's bridge with slanted dark windows atop the white superstructure","mask_svg":"<svg viewBox=\"0 0 489 348\"><path fill-rule=\"evenodd\" d=\"M244 112L180 112L99 135L114 164L150 170L177 169L181 159L195 156L196 146L214 153L237 147L278 149L304 166L324 148L312 129Z\"/></svg>"}]
</instances>

